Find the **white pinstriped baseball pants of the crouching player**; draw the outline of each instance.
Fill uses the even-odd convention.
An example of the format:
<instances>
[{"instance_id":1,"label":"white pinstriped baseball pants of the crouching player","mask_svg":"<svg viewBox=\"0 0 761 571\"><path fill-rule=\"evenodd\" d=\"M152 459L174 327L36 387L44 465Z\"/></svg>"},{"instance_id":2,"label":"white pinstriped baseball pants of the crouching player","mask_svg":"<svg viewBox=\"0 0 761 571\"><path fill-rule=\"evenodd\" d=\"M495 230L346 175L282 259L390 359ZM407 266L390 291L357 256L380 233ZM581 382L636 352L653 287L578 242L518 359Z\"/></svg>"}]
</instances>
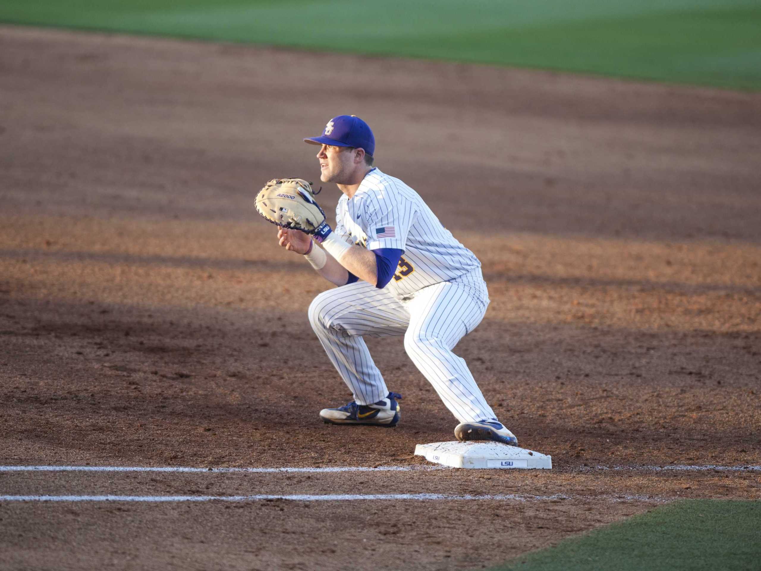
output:
<instances>
[{"instance_id":1,"label":"white pinstriped baseball pants of the crouching player","mask_svg":"<svg viewBox=\"0 0 761 571\"><path fill-rule=\"evenodd\" d=\"M389 392L362 337L403 335L409 358L464 423L496 419L465 361L452 352L481 322L487 305L479 270L401 301L368 282L342 285L314 298L309 319L358 404L377 402Z\"/></svg>"}]
</instances>

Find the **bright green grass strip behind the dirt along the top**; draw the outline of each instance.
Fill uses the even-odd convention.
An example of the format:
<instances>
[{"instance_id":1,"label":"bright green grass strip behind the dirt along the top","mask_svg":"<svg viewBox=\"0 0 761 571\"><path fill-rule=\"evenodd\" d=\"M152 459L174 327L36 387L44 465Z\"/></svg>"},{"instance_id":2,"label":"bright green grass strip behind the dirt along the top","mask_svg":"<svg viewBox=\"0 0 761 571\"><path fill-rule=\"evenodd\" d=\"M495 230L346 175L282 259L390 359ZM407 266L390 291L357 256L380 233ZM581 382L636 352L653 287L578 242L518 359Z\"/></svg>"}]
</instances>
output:
<instances>
[{"instance_id":1,"label":"bright green grass strip behind the dirt along the top","mask_svg":"<svg viewBox=\"0 0 761 571\"><path fill-rule=\"evenodd\" d=\"M761 89L758 0L3 0L0 21Z\"/></svg>"}]
</instances>

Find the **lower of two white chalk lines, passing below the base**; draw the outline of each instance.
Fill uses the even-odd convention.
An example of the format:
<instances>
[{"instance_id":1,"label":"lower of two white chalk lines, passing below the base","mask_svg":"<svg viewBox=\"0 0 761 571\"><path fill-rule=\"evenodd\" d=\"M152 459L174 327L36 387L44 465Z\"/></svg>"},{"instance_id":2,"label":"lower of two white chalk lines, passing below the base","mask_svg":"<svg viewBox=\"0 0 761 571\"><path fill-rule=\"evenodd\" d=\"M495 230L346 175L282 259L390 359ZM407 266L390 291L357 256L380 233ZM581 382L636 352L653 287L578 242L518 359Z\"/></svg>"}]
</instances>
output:
<instances>
[{"instance_id":1,"label":"lower of two white chalk lines, passing below the base","mask_svg":"<svg viewBox=\"0 0 761 571\"><path fill-rule=\"evenodd\" d=\"M271 496L267 494L255 494L252 496L0 496L0 502L262 502L277 499L294 502L351 502L361 500L417 500L417 501L459 501L459 500L507 500L517 502L547 501L564 499L582 499L583 496L568 496L555 494L552 496L518 496L516 494L495 494L471 496L469 494L457 496L444 493L368 493L368 494L292 494L289 496ZM604 497L613 502L626 502L642 500L659 502L661 499L650 496L597 496ZM588 498L585 498L588 499Z\"/></svg>"}]
</instances>

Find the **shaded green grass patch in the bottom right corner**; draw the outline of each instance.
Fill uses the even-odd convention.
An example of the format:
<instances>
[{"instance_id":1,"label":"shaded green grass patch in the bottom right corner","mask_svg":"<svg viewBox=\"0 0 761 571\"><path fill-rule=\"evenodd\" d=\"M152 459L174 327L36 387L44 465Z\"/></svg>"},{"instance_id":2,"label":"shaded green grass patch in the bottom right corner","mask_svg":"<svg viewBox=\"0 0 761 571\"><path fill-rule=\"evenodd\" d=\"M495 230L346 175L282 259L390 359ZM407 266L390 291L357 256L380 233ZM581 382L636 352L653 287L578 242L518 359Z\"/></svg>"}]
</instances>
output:
<instances>
[{"instance_id":1,"label":"shaded green grass patch in the bottom right corner","mask_svg":"<svg viewBox=\"0 0 761 571\"><path fill-rule=\"evenodd\" d=\"M687 500L528 553L492 571L761 568L761 502Z\"/></svg>"}]
</instances>

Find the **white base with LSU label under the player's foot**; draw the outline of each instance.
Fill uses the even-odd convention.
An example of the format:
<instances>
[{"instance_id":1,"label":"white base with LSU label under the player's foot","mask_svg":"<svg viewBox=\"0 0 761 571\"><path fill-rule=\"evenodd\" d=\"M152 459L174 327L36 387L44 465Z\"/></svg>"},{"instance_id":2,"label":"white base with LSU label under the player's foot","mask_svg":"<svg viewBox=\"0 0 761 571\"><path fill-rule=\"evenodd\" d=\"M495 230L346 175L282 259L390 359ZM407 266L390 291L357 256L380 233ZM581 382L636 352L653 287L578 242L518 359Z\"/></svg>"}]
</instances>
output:
<instances>
[{"instance_id":1,"label":"white base with LSU label under the player's foot","mask_svg":"<svg viewBox=\"0 0 761 571\"><path fill-rule=\"evenodd\" d=\"M491 441L419 444L415 455L454 468L552 468L552 456Z\"/></svg>"}]
</instances>

